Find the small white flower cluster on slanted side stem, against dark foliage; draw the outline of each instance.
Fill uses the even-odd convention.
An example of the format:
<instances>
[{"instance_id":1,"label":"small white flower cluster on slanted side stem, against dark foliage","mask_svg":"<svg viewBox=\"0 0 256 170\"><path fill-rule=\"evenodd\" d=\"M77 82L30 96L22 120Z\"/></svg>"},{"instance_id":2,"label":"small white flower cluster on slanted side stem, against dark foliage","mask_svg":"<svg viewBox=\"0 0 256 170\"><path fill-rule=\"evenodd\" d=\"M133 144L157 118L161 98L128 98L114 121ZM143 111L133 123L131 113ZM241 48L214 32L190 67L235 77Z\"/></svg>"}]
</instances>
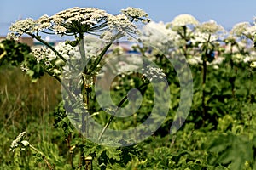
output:
<instances>
[{"instance_id":1,"label":"small white flower cluster on slanted side stem, against dark foliage","mask_svg":"<svg viewBox=\"0 0 256 170\"><path fill-rule=\"evenodd\" d=\"M163 80L164 77L166 77L166 74L164 71L157 67L152 67L148 65L146 68L143 68L143 81L146 80L146 78L152 82L152 81L160 81Z\"/></svg>"}]
</instances>

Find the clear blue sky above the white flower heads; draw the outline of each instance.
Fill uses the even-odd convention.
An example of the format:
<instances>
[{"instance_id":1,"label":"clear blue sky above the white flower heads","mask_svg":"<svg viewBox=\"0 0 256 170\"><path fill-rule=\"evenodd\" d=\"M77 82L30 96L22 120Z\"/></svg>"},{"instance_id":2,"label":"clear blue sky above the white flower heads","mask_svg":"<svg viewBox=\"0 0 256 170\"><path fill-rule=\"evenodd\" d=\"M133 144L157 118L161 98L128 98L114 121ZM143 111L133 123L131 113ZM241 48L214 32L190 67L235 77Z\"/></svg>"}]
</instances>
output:
<instances>
[{"instance_id":1,"label":"clear blue sky above the white flower heads","mask_svg":"<svg viewBox=\"0 0 256 170\"><path fill-rule=\"evenodd\" d=\"M156 22L172 21L178 14L192 14L201 22L216 20L225 29L241 21L253 22L256 16L256 0L1 0L0 36L6 35L11 22L19 17L38 19L43 14L52 15L73 7L101 8L119 14L120 9L129 6L143 8Z\"/></svg>"}]
</instances>

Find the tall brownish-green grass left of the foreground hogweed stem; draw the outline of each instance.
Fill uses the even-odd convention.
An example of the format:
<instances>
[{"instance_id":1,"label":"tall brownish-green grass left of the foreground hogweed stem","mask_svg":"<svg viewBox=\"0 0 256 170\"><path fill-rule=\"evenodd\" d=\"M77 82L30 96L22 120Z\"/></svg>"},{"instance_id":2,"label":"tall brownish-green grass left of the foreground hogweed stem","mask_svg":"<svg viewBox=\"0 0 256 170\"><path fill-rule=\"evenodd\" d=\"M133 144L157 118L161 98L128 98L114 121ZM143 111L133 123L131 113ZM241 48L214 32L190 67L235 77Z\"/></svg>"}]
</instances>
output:
<instances>
[{"instance_id":1,"label":"tall brownish-green grass left of the foreground hogweed stem","mask_svg":"<svg viewBox=\"0 0 256 170\"><path fill-rule=\"evenodd\" d=\"M33 144L58 138L53 137L57 129L52 111L61 99L60 92L61 85L52 77L45 75L32 83L20 68L0 67L0 169L14 163L9 145L17 134L26 131Z\"/></svg>"}]
</instances>

